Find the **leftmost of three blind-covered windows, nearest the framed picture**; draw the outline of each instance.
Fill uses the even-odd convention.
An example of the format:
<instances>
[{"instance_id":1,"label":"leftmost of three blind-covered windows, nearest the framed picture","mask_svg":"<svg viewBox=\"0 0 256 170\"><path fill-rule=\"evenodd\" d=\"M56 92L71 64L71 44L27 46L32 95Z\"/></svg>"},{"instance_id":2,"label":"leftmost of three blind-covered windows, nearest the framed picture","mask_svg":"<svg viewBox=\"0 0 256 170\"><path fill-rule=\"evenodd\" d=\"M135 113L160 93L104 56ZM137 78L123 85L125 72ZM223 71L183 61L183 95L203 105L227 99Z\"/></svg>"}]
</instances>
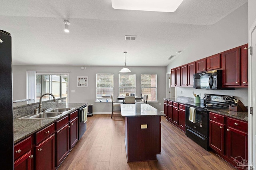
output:
<instances>
[{"instance_id":1,"label":"leftmost of three blind-covered windows, nearest the framed picture","mask_svg":"<svg viewBox=\"0 0 256 170\"><path fill-rule=\"evenodd\" d=\"M114 74L96 74L96 102L111 101L111 95L114 95Z\"/></svg>"}]
</instances>

